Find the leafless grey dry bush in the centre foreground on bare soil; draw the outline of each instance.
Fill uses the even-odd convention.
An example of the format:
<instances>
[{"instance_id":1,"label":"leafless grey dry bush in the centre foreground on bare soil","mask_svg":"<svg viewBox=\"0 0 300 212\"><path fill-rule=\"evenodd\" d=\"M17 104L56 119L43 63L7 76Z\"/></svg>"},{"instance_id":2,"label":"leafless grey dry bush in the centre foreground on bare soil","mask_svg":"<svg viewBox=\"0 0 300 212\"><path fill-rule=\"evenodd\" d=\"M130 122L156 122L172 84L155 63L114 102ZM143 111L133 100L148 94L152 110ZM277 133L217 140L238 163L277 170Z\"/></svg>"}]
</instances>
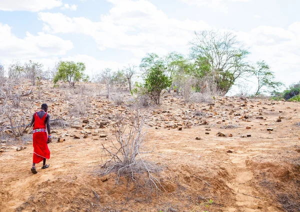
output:
<instances>
[{"instance_id":1,"label":"leafless grey dry bush in the centre foreground on bare soil","mask_svg":"<svg viewBox=\"0 0 300 212\"><path fill-rule=\"evenodd\" d=\"M143 151L146 131L142 130L143 116L136 112L132 117L120 118L113 128L116 141L109 141L103 145L103 151L109 159L102 165L102 175L116 173L116 184L120 176L128 179L128 184L133 182L136 187L163 189L162 185L152 173L158 172L160 167L142 159L141 154L150 153Z\"/></svg>"}]
</instances>

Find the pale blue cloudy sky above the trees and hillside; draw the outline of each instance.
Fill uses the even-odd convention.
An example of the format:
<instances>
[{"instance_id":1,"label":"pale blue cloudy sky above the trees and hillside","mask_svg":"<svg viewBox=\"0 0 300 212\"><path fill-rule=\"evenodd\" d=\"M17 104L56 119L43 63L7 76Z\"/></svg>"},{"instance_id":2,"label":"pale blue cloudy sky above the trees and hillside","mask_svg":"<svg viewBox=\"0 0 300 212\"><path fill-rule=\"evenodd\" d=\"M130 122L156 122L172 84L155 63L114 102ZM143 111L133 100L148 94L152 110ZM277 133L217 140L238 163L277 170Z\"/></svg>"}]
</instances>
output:
<instances>
[{"instance_id":1,"label":"pale blue cloudy sky above the trees and hillside","mask_svg":"<svg viewBox=\"0 0 300 212\"><path fill-rule=\"evenodd\" d=\"M0 0L0 63L83 61L87 73L188 53L193 31L229 29L285 84L300 80L299 0Z\"/></svg>"}]
</instances>

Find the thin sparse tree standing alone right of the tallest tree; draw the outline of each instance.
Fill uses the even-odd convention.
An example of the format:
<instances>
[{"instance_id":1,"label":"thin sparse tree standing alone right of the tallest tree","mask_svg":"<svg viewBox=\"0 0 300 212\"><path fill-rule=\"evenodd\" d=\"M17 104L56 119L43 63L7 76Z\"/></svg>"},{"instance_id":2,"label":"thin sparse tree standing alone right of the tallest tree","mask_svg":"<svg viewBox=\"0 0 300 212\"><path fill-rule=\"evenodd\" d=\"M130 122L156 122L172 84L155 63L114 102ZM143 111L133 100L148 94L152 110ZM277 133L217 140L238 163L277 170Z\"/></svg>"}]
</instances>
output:
<instances>
[{"instance_id":1,"label":"thin sparse tree standing alone right of the tallest tree","mask_svg":"<svg viewBox=\"0 0 300 212\"><path fill-rule=\"evenodd\" d=\"M257 80L257 89L255 96L261 93L261 88L267 87L276 89L283 85L280 81L275 81L274 72L270 71L269 65L264 61L257 61L256 64L252 67L252 75Z\"/></svg>"}]
</instances>

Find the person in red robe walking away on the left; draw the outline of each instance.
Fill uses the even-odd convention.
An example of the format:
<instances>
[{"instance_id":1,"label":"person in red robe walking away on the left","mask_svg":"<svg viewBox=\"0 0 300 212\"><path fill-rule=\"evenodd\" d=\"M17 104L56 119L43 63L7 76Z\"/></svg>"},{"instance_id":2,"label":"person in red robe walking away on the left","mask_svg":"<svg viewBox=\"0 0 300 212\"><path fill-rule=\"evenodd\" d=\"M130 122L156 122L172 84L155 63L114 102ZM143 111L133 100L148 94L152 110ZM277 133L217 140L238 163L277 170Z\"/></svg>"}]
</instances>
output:
<instances>
[{"instance_id":1,"label":"person in red robe walking away on the left","mask_svg":"<svg viewBox=\"0 0 300 212\"><path fill-rule=\"evenodd\" d=\"M51 141L50 134L50 115L47 113L48 105L43 103L41 110L34 112L30 126L33 125L33 162L31 167L32 173L37 173L35 163L42 163L42 169L48 168L46 159L50 159L50 150L48 143ZM47 134L48 132L48 134Z\"/></svg>"}]
</instances>

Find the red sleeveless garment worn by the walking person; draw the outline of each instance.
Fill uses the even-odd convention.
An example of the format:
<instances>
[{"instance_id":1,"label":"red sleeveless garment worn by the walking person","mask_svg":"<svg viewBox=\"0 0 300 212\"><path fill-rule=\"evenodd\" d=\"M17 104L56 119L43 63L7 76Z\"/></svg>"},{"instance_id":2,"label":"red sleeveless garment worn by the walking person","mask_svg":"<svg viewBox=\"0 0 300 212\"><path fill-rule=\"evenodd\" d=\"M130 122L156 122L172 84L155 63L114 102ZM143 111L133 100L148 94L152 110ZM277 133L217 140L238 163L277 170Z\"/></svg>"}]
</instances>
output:
<instances>
[{"instance_id":1,"label":"red sleeveless garment worn by the walking person","mask_svg":"<svg viewBox=\"0 0 300 212\"><path fill-rule=\"evenodd\" d=\"M50 158L50 150L47 144L47 132L45 118L47 113L44 114L42 118L38 117L37 112L34 114L34 129L44 129L44 131L37 131L33 133L33 162L39 163L44 158Z\"/></svg>"}]
</instances>

